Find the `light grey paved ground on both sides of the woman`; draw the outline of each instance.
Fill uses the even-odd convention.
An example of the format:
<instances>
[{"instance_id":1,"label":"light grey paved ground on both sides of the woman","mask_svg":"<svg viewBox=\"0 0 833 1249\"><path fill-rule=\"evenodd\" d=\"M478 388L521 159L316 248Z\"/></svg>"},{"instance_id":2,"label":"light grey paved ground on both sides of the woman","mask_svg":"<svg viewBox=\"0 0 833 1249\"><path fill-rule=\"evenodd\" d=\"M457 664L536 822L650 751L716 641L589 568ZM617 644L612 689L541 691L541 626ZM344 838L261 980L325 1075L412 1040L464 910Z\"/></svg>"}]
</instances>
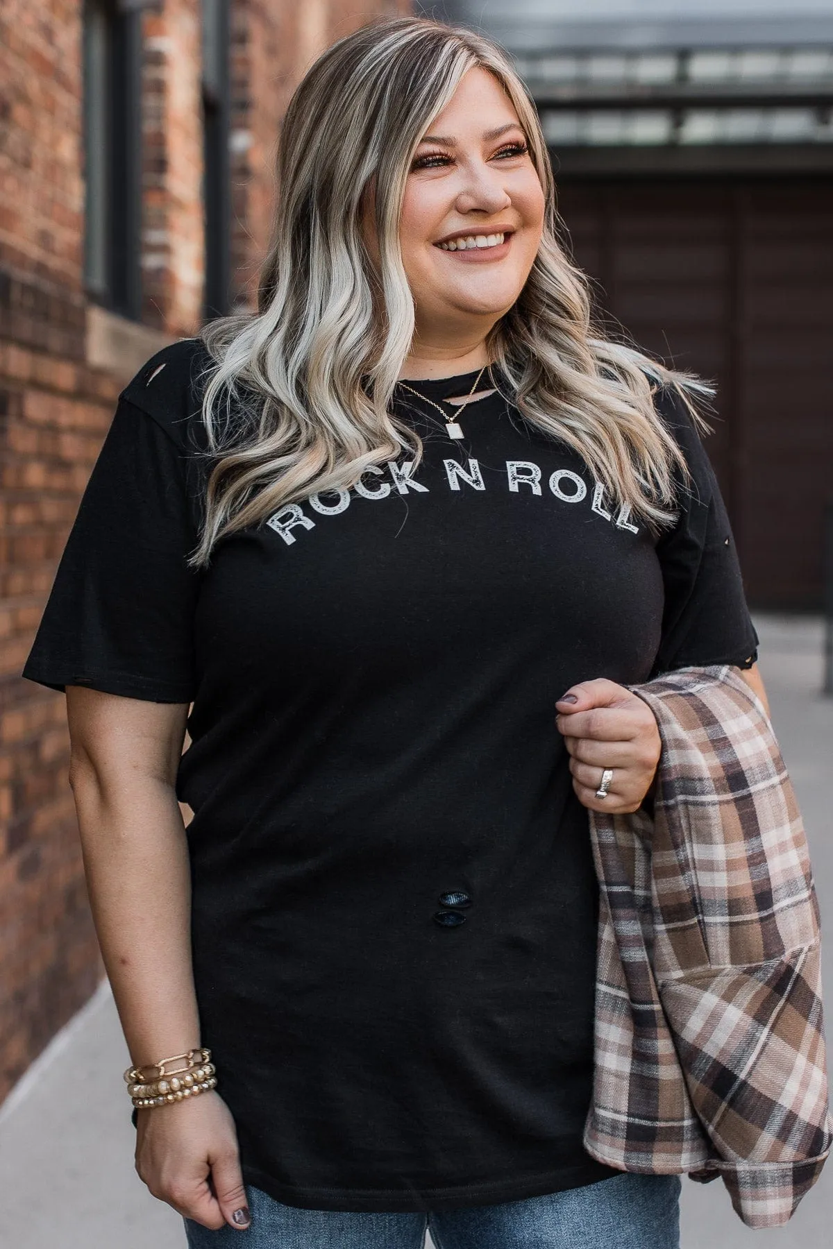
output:
<instances>
[{"instance_id":1,"label":"light grey paved ground on both sides of the woman","mask_svg":"<svg viewBox=\"0 0 833 1249\"><path fill-rule=\"evenodd\" d=\"M819 696L822 628L817 620L756 623L776 733L808 829L829 987L833 698ZM829 1025L828 1033L833 1037ZM184 1249L181 1219L149 1195L134 1170L135 1134L121 1080L127 1062L104 987L0 1110L0 1249ZM832 1224L833 1163L791 1223L771 1232L744 1228L719 1180L683 1184L683 1249L743 1249L753 1242L763 1249L826 1249Z\"/></svg>"}]
</instances>

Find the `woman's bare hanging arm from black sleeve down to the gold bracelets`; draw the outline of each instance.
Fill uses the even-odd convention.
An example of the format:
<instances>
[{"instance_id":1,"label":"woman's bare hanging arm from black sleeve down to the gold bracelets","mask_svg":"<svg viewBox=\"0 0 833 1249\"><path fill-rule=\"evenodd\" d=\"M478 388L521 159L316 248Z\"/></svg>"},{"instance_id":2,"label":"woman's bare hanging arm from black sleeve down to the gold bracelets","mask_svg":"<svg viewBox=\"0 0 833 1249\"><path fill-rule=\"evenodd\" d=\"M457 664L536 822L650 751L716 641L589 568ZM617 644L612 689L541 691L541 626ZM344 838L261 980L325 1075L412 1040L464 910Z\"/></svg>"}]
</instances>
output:
<instances>
[{"instance_id":1,"label":"woman's bare hanging arm from black sleeve down to the gold bracelets","mask_svg":"<svg viewBox=\"0 0 833 1249\"><path fill-rule=\"evenodd\" d=\"M187 704L67 686L87 892L131 1060L200 1044L190 872L176 801Z\"/></svg>"}]
</instances>

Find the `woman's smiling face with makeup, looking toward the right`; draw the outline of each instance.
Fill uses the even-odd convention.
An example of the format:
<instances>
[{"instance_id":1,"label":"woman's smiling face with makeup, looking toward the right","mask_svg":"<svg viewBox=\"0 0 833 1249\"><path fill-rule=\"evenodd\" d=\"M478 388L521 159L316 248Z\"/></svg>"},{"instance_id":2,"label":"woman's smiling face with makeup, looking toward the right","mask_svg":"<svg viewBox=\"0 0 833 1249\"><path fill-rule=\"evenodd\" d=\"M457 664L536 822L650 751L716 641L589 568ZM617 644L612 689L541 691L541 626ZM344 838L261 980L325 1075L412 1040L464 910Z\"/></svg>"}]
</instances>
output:
<instances>
[{"instance_id":1,"label":"woman's smiling face with makeup, looking toward the right","mask_svg":"<svg viewBox=\"0 0 833 1249\"><path fill-rule=\"evenodd\" d=\"M428 126L407 176L400 245L417 338L486 333L517 300L545 195L497 79L476 67Z\"/></svg>"}]
</instances>

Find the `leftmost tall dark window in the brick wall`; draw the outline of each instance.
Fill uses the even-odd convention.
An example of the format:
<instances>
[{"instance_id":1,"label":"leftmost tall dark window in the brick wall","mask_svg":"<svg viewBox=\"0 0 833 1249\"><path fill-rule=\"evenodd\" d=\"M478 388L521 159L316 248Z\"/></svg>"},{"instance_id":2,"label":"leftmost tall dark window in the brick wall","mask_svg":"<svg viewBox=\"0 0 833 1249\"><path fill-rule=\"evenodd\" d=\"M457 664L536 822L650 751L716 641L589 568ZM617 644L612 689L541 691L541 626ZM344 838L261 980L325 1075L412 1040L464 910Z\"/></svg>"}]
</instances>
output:
<instances>
[{"instance_id":1,"label":"leftmost tall dark window in the brick wall","mask_svg":"<svg viewBox=\"0 0 833 1249\"><path fill-rule=\"evenodd\" d=\"M84 277L97 304L141 315L141 12L84 4Z\"/></svg>"}]
</instances>

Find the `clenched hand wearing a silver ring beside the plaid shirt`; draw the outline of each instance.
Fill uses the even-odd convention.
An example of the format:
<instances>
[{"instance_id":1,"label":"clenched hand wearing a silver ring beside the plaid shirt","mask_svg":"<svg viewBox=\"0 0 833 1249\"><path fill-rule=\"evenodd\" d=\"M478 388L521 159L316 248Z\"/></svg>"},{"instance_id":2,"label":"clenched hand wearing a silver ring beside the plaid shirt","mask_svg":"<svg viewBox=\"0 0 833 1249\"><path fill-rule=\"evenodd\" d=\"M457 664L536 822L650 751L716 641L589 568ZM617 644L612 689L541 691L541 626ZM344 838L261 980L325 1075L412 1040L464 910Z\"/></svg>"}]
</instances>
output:
<instances>
[{"instance_id":1,"label":"clenched hand wearing a silver ring beside the plaid shirt","mask_svg":"<svg viewBox=\"0 0 833 1249\"><path fill-rule=\"evenodd\" d=\"M572 696L574 701L566 701ZM579 681L556 702L556 726L569 752L573 789L589 811L637 811L653 786L662 741L642 698L614 681ZM597 798L602 771L613 769L607 798Z\"/></svg>"}]
</instances>

